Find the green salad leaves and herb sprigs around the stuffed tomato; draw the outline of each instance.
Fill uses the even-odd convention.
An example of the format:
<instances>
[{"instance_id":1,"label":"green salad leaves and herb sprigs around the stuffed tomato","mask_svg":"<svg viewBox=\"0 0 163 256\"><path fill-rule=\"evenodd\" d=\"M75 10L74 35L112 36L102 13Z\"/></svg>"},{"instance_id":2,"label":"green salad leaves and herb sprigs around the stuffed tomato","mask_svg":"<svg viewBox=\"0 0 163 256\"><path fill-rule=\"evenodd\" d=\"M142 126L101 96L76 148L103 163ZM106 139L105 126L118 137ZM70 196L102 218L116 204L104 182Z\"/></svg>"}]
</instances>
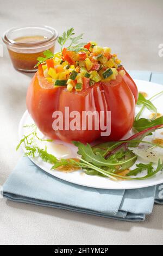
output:
<instances>
[{"instance_id":1,"label":"green salad leaves and herb sprigs around the stuffed tomato","mask_svg":"<svg viewBox=\"0 0 163 256\"><path fill-rule=\"evenodd\" d=\"M77 36L72 40L71 36L73 34L73 29L68 31L66 34L63 34L59 39L61 46L64 46L68 39L72 41L71 45L77 44L82 35ZM47 54L46 57L50 57L50 54L49 56ZM162 93L163 91L154 95L151 97L151 99ZM136 115L134 121L133 127L136 133L125 141L105 142L94 146L91 146L88 143L83 144L81 142L73 141L72 143L78 147L78 154L80 155L78 159L57 159L57 157L47 152L46 147L45 149L39 148L37 141L52 142L52 140L40 138L37 135L37 127L35 124L24 126L27 128L30 127L32 131L21 139L20 143L16 147L16 150L18 150L20 145L23 143L24 147L26 148L25 156L39 156L43 161L53 164L52 169L58 169L59 167L82 168L88 175L101 175L112 180L143 180L151 178L163 170L163 159L162 162L159 159L156 169L153 167L153 162L149 162L147 164L136 164L135 169L129 170L129 168L132 167L137 160L137 155L134 154L129 148L135 148L140 143L149 144L152 146L152 148L163 148L162 145L149 141L143 141L143 138L151 135L152 132L163 127L163 117L154 120L140 118L140 115L145 107L151 111L154 111L154 113L157 113L156 107L150 100L145 99L142 94L139 94L137 105L142 105L142 107L140 112ZM139 173L142 173L144 170L147 170L147 174L145 176L133 177ZM123 171L127 171L127 173L123 174Z\"/></svg>"}]
</instances>

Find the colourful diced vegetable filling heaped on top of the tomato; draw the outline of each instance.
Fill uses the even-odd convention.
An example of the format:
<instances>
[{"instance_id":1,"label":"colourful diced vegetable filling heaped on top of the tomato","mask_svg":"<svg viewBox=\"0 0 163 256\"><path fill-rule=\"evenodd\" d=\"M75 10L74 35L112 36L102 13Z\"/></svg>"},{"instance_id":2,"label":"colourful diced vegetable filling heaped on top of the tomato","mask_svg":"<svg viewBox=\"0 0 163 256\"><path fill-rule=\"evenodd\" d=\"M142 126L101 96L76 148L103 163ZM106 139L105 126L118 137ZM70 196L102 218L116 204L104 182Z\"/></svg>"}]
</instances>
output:
<instances>
[{"instance_id":1,"label":"colourful diced vegetable filling heaped on top of the tomato","mask_svg":"<svg viewBox=\"0 0 163 256\"><path fill-rule=\"evenodd\" d=\"M109 47L100 47L89 42L79 51L64 48L51 59L40 64L39 72L54 87L66 87L68 92L82 91L97 82L116 80L118 74L125 75L121 60L111 54Z\"/></svg>"}]
</instances>

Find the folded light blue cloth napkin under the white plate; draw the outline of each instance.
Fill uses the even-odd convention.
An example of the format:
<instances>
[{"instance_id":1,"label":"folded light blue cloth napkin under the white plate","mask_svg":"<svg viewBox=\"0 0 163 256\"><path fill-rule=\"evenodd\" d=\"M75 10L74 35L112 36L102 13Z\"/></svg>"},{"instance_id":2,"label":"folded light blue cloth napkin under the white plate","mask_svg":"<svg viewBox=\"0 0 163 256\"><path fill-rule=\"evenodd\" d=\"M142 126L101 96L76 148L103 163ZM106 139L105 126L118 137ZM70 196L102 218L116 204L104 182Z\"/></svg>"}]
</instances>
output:
<instances>
[{"instance_id":1,"label":"folded light blue cloth napkin under the white plate","mask_svg":"<svg viewBox=\"0 0 163 256\"><path fill-rule=\"evenodd\" d=\"M152 73L148 71L130 74L152 80ZM21 157L3 185L3 196L16 202L136 222L144 221L146 215L152 213L154 202L163 204L163 184L126 191L89 188L54 178L28 157Z\"/></svg>"}]
</instances>

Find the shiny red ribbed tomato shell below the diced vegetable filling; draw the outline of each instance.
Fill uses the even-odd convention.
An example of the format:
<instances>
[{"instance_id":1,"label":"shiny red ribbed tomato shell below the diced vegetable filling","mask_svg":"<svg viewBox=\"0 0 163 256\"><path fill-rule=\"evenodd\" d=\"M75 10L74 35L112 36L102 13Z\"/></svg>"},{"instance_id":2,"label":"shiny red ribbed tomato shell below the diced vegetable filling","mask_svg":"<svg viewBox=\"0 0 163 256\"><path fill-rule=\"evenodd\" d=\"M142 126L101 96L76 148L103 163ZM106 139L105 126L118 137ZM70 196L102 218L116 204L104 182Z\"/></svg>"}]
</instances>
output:
<instances>
[{"instance_id":1,"label":"shiny red ribbed tomato shell below the diced vegetable filling","mask_svg":"<svg viewBox=\"0 0 163 256\"><path fill-rule=\"evenodd\" d=\"M65 117L65 107L69 111L79 111L81 130L54 131L52 124L54 111L61 111ZM54 88L46 78L35 74L27 92L27 109L40 131L52 139L71 142L91 143L96 139L117 141L130 131L134 122L135 99L131 89L120 75L115 81L96 83L82 92L68 92L66 88ZM111 134L101 137L101 130L82 130L82 111L111 111ZM69 118L69 123L73 118Z\"/></svg>"}]
</instances>

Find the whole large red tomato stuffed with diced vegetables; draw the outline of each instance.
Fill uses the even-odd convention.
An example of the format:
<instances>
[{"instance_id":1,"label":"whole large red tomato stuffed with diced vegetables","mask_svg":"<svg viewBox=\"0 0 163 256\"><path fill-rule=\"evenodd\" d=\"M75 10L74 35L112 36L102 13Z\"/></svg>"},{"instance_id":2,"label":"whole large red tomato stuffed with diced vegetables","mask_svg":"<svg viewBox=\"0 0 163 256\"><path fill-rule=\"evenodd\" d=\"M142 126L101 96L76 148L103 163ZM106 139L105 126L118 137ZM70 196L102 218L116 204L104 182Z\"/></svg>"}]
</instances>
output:
<instances>
[{"instance_id":1,"label":"whole large red tomato stuffed with diced vegetables","mask_svg":"<svg viewBox=\"0 0 163 256\"><path fill-rule=\"evenodd\" d=\"M40 131L49 138L88 143L96 139L116 141L133 126L137 95L136 84L116 54L111 54L109 47L89 42L78 51L64 48L39 65L28 88L27 109ZM87 124L83 129L83 112L105 115L108 111L109 135L101 136L100 124L99 129L93 124L91 129ZM71 113L76 112L80 117L74 121ZM62 113L59 129L53 125L57 117L54 113Z\"/></svg>"}]
</instances>

